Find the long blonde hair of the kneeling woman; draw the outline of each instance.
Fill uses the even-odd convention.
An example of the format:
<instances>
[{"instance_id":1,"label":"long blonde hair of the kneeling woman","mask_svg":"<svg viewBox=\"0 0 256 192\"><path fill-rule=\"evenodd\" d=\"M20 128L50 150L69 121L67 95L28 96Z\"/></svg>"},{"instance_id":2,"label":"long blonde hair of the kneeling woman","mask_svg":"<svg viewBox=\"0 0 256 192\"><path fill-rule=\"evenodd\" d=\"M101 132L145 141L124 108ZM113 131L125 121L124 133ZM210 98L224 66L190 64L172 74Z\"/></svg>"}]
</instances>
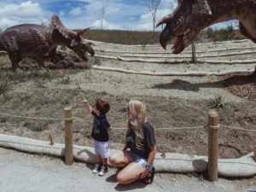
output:
<instances>
[{"instance_id":1,"label":"long blonde hair of the kneeling woman","mask_svg":"<svg viewBox=\"0 0 256 192\"><path fill-rule=\"evenodd\" d=\"M131 100L128 108L130 115L128 117L128 134L131 129L135 132L135 143L137 148L142 147L143 124L146 120L146 105L139 100Z\"/></svg>"}]
</instances>

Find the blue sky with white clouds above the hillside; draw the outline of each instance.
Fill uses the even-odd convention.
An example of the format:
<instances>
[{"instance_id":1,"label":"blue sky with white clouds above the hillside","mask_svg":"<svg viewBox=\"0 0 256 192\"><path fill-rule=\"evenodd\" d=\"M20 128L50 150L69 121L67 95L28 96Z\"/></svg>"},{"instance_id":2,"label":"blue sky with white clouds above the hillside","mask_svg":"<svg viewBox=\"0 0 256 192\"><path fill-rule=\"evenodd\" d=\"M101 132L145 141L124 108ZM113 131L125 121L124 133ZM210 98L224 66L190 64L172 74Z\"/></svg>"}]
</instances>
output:
<instances>
[{"instance_id":1,"label":"blue sky with white clouds above the hillside","mask_svg":"<svg viewBox=\"0 0 256 192\"><path fill-rule=\"evenodd\" d=\"M156 20L172 13L176 6L172 2L160 1ZM151 31L153 28L152 16L144 0L1 0L0 28L5 30L21 23L48 24L52 14L58 15L69 29L100 28L102 8L105 9L104 29ZM213 27L220 28L229 23Z\"/></svg>"}]
</instances>

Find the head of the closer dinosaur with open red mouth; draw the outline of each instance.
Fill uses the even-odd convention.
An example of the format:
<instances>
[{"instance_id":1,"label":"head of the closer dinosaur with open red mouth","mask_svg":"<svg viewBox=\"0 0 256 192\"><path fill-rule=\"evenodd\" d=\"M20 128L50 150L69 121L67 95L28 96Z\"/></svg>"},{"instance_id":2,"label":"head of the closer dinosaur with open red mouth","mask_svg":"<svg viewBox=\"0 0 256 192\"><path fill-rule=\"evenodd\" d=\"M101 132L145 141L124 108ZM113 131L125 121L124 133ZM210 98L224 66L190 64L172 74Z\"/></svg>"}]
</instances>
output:
<instances>
[{"instance_id":1,"label":"head of the closer dinosaur with open red mouth","mask_svg":"<svg viewBox=\"0 0 256 192\"><path fill-rule=\"evenodd\" d=\"M160 35L160 44L166 44L177 38L173 45L173 53L178 54L195 40L196 35L205 27L204 22L212 12L207 0L178 0L177 9L171 15L162 18L157 26L166 24Z\"/></svg>"}]
</instances>

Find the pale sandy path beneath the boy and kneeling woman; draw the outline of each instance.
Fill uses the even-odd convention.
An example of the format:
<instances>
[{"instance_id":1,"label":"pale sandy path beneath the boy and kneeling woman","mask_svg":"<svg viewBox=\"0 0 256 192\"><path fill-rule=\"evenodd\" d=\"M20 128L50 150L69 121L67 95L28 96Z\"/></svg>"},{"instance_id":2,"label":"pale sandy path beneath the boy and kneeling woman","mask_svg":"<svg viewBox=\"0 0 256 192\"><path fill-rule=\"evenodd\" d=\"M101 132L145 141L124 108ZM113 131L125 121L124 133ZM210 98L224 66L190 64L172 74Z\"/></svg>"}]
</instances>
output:
<instances>
[{"instance_id":1,"label":"pale sandy path beneath the boy and kneeling woman","mask_svg":"<svg viewBox=\"0 0 256 192\"><path fill-rule=\"evenodd\" d=\"M154 183L141 181L120 185L115 168L99 177L91 173L92 165L74 162L66 166L61 159L38 154L24 154L0 148L0 188L4 192L44 191L175 191L175 192L242 192L256 189L256 177L241 179L218 178L209 182L203 176L157 173Z\"/></svg>"}]
</instances>

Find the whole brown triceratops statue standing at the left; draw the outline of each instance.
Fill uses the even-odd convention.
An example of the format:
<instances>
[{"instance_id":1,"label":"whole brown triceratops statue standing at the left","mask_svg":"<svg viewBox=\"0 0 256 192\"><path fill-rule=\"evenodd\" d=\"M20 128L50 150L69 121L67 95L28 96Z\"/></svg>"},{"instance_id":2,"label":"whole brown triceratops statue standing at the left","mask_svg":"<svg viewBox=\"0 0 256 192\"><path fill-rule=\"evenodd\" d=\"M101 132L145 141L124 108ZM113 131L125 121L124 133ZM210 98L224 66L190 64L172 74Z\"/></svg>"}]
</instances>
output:
<instances>
[{"instance_id":1,"label":"whole brown triceratops statue standing at the left","mask_svg":"<svg viewBox=\"0 0 256 192\"><path fill-rule=\"evenodd\" d=\"M57 45L67 46L84 61L88 60L86 52L94 55L94 49L90 46L92 43L82 38L89 28L79 32L70 31L57 15L52 15L52 24L55 28L22 24L0 33L0 51L7 52L14 70L19 67L18 63L23 57L36 58L40 67L44 67L44 55L47 54L54 63L60 61L61 55L56 54Z\"/></svg>"}]
</instances>

